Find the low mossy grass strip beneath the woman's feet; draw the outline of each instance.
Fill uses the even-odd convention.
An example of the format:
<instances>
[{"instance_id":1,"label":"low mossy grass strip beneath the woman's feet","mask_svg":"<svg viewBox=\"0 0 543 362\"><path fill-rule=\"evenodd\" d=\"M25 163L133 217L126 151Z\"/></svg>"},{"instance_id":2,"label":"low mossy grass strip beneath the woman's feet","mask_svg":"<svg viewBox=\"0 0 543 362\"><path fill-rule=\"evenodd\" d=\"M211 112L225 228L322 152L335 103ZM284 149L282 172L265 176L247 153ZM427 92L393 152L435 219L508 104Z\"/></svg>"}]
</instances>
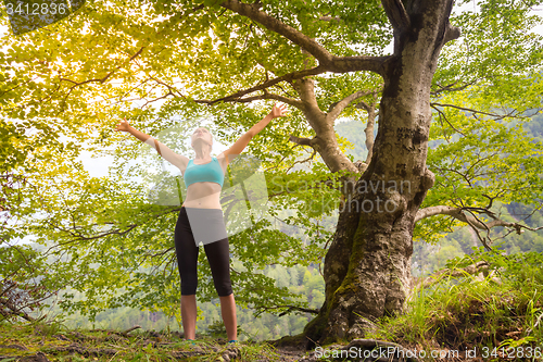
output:
<instances>
[{"instance_id":1,"label":"low mossy grass strip beneath the woman's feet","mask_svg":"<svg viewBox=\"0 0 543 362\"><path fill-rule=\"evenodd\" d=\"M13 361L45 353L50 361L276 361L279 354L265 344L227 346L226 340L201 336L192 342L175 334L114 330L68 330L59 323L0 324L0 359ZM16 357L16 358L15 358ZM9 360L2 360L9 361Z\"/></svg>"}]
</instances>

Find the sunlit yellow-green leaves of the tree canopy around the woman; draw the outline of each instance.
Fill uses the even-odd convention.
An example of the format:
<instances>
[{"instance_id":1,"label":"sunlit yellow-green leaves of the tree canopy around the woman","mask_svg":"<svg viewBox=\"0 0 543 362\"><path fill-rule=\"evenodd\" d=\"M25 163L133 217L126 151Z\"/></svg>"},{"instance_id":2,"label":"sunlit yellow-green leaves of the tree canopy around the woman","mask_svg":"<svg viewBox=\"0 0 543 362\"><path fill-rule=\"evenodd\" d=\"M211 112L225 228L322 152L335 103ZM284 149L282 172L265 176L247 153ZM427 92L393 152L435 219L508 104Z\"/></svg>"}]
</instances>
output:
<instances>
[{"instance_id":1,"label":"sunlit yellow-green leaves of the tree canopy around the woman","mask_svg":"<svg viewBox=\"0 0 543 362\"><path fill-rule=\"evenodd\" d=\"M504 203L541 200L541 145L514 124L541 107L541 37L531 32L540 20L528 16L529 4L522 1L489 4L452 20L465 37L444 48L433 79L431 137L439 145L428 166L437 184L425 207L478 207L488 202L483 195L500 196ZM339 7L270 0L261 5L336 55L381 54L392 39L378 1ZM340 21L323 23L324 15ZM4 34L0 41L5 50L0 54L0 152L13 175L2 178L8 187L1 199L10 220L17 220L1 232L2 242L34 235L41 246L53 247L50 270L70 276L74 294L86 297L74 301L64 295L66 311L92 319L104 309L128 305L178 316L172 242L178 208L149 202L156 178L149 168L160 168L159 159L144 151L147 146L115 134L114 124L126 116L186 152L167 130L177 127L186 135L209 121L216 139L229 145L266 114L270 102L205 104L315 61L285 37L211 1L93 1L68 18L18 37ZM468 58L473 49L478 57ZM362 72L315 78L324 111L380 83ZM291 95L291 87L281 84L270 91ZM364 118L356 107L342 115ZM340 192L321 185L338 175L318 160L291 168L306 154L291 147L290 135L314 135L299 110L270 124L248 149L263 161L272 208L267 219L231 238L240 262L232 280L242 307L313 302L261 271L272 263L317 265L333 232L336 204L330 201L338 201ZM77 161L84 149L115 157L109 177L85 171ZM432 241L450 225L450 220L425 220L415 236ZM211 273L203 255L199 262L199 298L210 301L215 296ZM317 292L315 300L320 300Z\"/></svg>"}]
</instances>

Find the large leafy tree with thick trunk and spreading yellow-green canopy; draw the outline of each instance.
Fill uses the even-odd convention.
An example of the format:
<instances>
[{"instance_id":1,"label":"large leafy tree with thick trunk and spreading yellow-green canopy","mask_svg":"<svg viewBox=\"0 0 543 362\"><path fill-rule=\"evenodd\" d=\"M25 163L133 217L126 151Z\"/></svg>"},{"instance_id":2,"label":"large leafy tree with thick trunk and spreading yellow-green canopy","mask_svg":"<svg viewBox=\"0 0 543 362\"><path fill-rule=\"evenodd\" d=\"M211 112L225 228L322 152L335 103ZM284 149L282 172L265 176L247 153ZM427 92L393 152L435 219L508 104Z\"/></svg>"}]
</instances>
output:
<instances>
[{"instance_id":1,"label":"large leafy tree with thick trunk and spreading yellow-green canopy","mask_svg":"<svg viewBox=\"0 0 543 362\"><path fill-rule=\"evenodd\" d=\"M111 132L123 115L155 135L176 123L174 115L207 114L218 137L231 141L262 113L258 101L292 105L290 121L263 133L251 150L267 167L274 215L300 200L314 202L316 195L345 205L326 250L326 300L304 334L320 342L352 339L375 319L402 312L412 288L414 233L444 227L442 217L430 216L476 230L520 230L526 226L493 213L492 201L541 201L536 146L512 126L541 107L541 39L526 32L539 22L529 13L535 3L487 1L478 12L459 13L453 26L452 0L94 2L66 21L3 38L4 64L17 66L4 71L2 112L54 117L72 127L72 137L94 136L98 149L123 145ZM390 41L393 52L382 54ZM333 129L340 116L366 122L367 160L354 162L343 152ZM430 137L440 146L428 158ZM287 140L324 163L313 163L311 173L291 172L302 147ZM118 154L137 158L135 145L125 143ZM121 190L121 177L115 187L68 172L63 187L71 192L40 194L49 228L42 223L34 232L59 240L72 255L68 266L87 276L74 287L87 289L88 302L75 305L106 305L96 302L103 291L110 307L176 309L175 288L150 286L175 280L166 273L173 257L167 230L178 208L150 205L134 196L141 191L136 185L128 185L131 195ZM330 179L340 187L327 189L336 185ZM293 182L298 187L289 190ZM437 191L425 201L433 185ZM254 272L269 262L318 260L324 230L311 217L332 211L326 201L317 211L299 208L290 219L310 227L315 242L306 249L265 222L236 237L233 252L244 270L233 280L242 303L289 308L281 301L287 291ZM152 247L143 250L142 240ZM266 242L255 247L254 240ZM118 296L114 287L126 292Z\"/></svg>"}]
</instances>

